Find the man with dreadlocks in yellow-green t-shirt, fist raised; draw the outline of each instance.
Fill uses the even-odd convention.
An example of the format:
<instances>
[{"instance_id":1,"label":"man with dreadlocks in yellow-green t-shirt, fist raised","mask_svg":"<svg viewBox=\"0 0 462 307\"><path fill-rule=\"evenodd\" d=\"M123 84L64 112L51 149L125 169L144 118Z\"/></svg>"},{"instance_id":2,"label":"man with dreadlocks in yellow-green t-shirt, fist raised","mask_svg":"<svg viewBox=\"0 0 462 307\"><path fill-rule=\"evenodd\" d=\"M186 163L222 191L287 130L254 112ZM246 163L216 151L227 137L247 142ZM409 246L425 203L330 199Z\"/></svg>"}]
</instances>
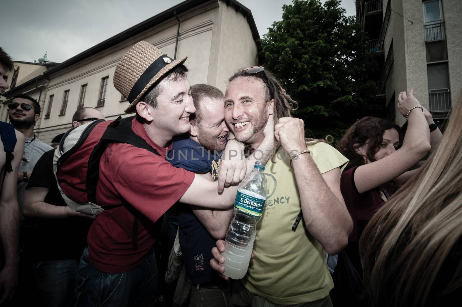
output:
<instances>
[{"instance_id":1,"label":"man with dreadlocks in yellow-green t-shirt, fist raised","mask_svg":"<svg viewBox=\"0 0 462 307\"><path fill-rule=\"evenodd\" d=\"M348 160L323 141L305 139L304 122L291 117L297 102L270 72L252 67L229 80L225 121L238 141L252 151L263 140L268 118L275 123L275 154L265 166L268 194L257 225L255 258L247 275L234 283L231 306L332 306L334 284L325 252L340 252L352 229L340 193ZM224 251L222 240L212 251L211 265L220 273L225 271Z\"/></svg>"}]
</instances>

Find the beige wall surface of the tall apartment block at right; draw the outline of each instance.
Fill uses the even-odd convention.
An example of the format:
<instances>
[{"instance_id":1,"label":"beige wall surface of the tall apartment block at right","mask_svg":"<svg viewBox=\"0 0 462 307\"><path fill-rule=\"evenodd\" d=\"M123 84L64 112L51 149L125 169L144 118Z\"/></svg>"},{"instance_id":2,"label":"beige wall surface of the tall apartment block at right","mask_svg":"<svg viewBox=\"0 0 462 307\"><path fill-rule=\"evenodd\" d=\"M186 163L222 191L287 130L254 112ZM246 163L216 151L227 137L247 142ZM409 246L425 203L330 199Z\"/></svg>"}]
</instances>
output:
<instances>
[{"instance_id":1,"label":"beige wall surface of the tall apartment block at right","mask_svg":"<svg viewBox=\"0 0 462 307\"><path fill-rule=\"evenodd\" d=\"M383 4L387 4L383 0ZM391 0L389 24L384 36L385 61L393 41L394 61L385 82L386 102L395 93L395 104L401 91L414 89L415 97L429 109L426 42L422 0ZM454 108L458 93L462 90L462 1L442 0L444 28L448 50L451 102ZM383 7L383 17L386 7ZM401 16L400 16L401 15ZM405 17L405 18L403 18ZM412 21L412 23L406 19ZM402 125L405 118L395 109L395 121Z\"/></svg>"}]
</instances>

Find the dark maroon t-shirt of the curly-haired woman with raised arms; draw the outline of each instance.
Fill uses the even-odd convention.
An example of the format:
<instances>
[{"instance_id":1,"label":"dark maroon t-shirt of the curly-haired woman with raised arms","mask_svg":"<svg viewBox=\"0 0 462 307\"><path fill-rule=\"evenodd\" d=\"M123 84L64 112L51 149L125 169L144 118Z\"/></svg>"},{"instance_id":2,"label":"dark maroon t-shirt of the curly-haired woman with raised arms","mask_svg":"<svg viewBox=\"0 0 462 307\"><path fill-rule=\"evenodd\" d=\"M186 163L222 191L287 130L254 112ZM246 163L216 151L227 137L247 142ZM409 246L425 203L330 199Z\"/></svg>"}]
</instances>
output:
<instances>
[{"instance_id":1,"label":"dark maroon t-shirt of the curly-haired woman with raised arms","mask_svg":"<svg viewBox=\"0 0 462 307\"><path fill-rule=\"evenodd\" d=\"M340 190L345 200L346 208L353 219L353 232L350 233L349 242L359 241L367 222L372 215L380 209L385 201L380 197L378 189L372 189L359 194L354 183L354 172L358 167L352 167L342 173Z\"/></svg>"}]
</instances>

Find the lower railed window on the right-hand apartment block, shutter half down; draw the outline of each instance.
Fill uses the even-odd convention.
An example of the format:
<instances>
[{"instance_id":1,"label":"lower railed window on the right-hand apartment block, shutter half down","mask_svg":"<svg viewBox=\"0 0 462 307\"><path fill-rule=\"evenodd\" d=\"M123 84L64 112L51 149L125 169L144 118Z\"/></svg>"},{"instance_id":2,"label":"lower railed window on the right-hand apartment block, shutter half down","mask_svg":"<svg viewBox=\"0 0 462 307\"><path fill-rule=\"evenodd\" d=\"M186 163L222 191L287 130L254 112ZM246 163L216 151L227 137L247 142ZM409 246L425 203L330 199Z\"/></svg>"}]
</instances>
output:
<instances>
[{"instance_id":1,"label":"lower railed window on the right-hand apartment block, shutter half down","mask_svg":"<svg viewBox=\"0 0 462 307\"><path fill-rule=\"evenodd\" d=\"M451 92L448 62L427 64L427 78L430 111L449 111Z\"/></svg>"}]
</instances>

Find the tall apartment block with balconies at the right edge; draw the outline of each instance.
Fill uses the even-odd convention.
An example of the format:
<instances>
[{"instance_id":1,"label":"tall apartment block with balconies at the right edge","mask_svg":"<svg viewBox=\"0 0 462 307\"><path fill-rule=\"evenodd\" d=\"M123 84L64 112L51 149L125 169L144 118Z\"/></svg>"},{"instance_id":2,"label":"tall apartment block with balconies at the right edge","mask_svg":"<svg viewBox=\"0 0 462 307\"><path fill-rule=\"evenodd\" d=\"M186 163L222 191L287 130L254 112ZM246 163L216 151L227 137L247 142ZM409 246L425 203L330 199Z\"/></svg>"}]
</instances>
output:
<instances>
[{"instance_id":1,"label":"tall apartment block with balconies at the right edge","mask_svg":"<svg viewBox=\"0 0 462 307\"><path fill-rule=\"evenodd\" d=\"M399 92L414 89L420 103L444 124L462 90L462 1L356 0L356 16L376 55L377 100L388 118L405 122Z\"/></svg>"}]
</instances>

